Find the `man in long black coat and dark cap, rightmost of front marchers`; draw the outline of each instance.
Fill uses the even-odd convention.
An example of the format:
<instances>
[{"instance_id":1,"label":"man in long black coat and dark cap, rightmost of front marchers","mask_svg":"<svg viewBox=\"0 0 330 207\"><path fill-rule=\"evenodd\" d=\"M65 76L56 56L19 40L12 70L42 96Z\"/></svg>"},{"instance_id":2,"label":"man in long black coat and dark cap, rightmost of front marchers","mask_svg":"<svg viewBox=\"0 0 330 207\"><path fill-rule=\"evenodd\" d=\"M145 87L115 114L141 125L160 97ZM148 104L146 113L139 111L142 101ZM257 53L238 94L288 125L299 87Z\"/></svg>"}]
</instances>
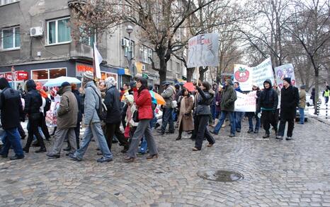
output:
<instances>
[{"instance_id":1,"label":"man in long black coat and dark cap, rightmost of front marchers","mask_svg":"<svg viewBox=\"0 0 330 207\"><path fill-rule=\"evenodd\" d=\"M298 89L291 85L291 78L284 78L283 88L280 90L280 126L276 138L283 139L285 123L288 122L286 140L292 139L292 131L295 126L296 108L298 105Z\"/></svg>"}]
</instances>

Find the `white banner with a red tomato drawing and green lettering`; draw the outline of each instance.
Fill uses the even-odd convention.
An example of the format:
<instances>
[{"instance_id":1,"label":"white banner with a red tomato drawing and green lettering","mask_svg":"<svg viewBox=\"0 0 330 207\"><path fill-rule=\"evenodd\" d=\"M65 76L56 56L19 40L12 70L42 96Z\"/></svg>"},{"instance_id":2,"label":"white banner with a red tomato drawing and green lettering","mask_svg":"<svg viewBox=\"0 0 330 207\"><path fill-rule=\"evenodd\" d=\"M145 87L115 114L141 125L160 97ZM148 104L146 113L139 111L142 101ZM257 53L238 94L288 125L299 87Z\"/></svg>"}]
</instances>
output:
<instances>
[{"instance_id":1,"label":"white banner with a red tomato drawing and green lettering","mask_svg":"<svg viewBox=\"0 0 330 207\"><path fill-rule=\"evenodd\" d=\"M266 79L270 79L274 83L271 58L264 60L255 67L234 64L234 81L239 82L241 90L251 90L252 84L257 84L260 88L263 88L263 82Z\"/></svg>"}]
</instances>

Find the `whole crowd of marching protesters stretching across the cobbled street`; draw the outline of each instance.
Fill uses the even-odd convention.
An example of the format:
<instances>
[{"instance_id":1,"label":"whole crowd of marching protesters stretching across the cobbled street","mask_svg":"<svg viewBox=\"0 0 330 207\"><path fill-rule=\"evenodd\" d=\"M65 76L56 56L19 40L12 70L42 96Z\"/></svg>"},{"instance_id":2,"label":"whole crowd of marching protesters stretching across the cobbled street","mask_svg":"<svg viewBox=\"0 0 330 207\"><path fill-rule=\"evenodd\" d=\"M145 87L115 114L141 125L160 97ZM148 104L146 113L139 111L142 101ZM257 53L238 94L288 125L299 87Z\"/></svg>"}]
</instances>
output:
<instances>
[{"instance_id":1,"label":"whole crowd of marching protesters stretching across the cobbled street","mask_svg":"<svg viewBox=\"0 0 330 207\"><path fill-rule=\"evenodd\" d=\"M229 137L237 136L241 133L243 119L249 122L247 133L258 134L263 126L263 138L269 138L272 126L277 139L283 139L288 122L287 140L292 139L297 108L300 112L299 123L304 124L305 85L298 91L290 78L283 79L281 89L271 80L264 81L263 85L251 85L251 91L255 92L255 112L235 111L237 93L244 92L239 83L233 83L230 78L219 85L198 81L193 83L193 88L188 88L165 81L161 86L163 91L159 95L164 102L160 105L146 78L137 77L118 90L115 78L108 77L96 83L93 73L87 71L81 79L81 88L64 82L56 91L61 98L57 126L50 134L45 117L55 97L54 92L47 91L33 80L26 81L24 90L14 90L5 78L0 78L1 124L4 129L1 156L7 158L12 148L15 155L11 160L22 159L24 152L30 153L31 146L38 146L35 153L47 152L47 158L60 158L62 147L67 143L64 148L66 155L81 161L89 143L95 140L98 155L101 155L97 162L113 160L113 141L123 146L121 152L125 153L125 162L134 162L137 153L147 152L147 159L153 160L159 156L154 136L173 134L176 129L176 141L181 140L183 131L186 131L195 141L192 150L198 151L202 149L204 140L208 142L207 147L212 147L214 136L220 134L226 124L230 126ZM159 110L162 111L161 124L157 120ZM23 147L21 139L26 135L21 122L25 119L28 120L28 138ZM85 129L83 137L80 136L81 127ZM158 127L157 133L153 133L153 129ZM51 148L46 149L42 135L46 141L53 136Z\"/></svg>"}]
</instances>

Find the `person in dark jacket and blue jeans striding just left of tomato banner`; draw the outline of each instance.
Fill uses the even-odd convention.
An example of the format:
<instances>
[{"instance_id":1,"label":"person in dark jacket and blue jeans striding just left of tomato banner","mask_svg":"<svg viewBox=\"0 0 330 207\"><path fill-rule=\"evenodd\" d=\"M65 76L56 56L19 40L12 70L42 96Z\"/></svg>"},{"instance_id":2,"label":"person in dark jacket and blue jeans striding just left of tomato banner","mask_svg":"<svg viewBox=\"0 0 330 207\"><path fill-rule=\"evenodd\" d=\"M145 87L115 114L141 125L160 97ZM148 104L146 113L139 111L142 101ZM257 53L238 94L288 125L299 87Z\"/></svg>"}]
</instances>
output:
<instances>
[{"instance_id":1,"label":"person in dark jacket and blue jeans striding just left of tomato banner","mask_svg":"<svg viewBox=\"0 0 330 207\"><path fill-rule=\"evenodd\" d=\"M234 137L236 134L236 123L235 123L235 116L234 116L234 104L237 100L237 95L232 87L232 79L228 78L226 82L224 83L225 87L222 92L222 100L220 103L221 107L221 115L219 122L217 122L217 125L215 126L214 131L212 131L212 134L217 135L222 127L222 124L224 123L224 119L226 119L227 114L229 114L229 120L230 120L230 137Z\"/></svg>"}]
</instances>

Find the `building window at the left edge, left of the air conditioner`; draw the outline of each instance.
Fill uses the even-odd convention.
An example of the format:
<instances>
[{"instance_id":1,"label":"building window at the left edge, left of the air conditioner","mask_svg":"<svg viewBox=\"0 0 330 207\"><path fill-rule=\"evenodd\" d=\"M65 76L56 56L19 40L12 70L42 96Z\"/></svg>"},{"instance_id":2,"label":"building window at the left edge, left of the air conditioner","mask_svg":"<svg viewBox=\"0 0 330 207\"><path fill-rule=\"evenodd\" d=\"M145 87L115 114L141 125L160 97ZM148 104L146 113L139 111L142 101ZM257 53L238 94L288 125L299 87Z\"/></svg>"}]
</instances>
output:
<instances>
[{"instance_id":1,"label":"building window at the left edge, left of the air conditioner","mask_svg":"<svg viewBox=\"0 0 330 207\"><path fill-rule=\"evenodd\" d=\"M19 27L4 28L1 32L2 49L19 49L21 47L21 34Z\"/></svg>"}]
</instances>

